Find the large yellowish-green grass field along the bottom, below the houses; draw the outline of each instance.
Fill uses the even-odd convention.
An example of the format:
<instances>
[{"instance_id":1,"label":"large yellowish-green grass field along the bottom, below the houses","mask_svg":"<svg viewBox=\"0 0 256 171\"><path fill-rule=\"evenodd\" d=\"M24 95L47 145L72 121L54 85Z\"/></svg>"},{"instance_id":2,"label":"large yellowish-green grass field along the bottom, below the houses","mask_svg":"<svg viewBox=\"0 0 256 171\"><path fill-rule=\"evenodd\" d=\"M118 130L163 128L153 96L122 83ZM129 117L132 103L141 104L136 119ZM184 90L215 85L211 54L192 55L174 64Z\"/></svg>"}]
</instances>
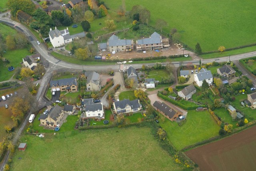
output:
<instances>
[{"instance_id":1,"label":"large yellowish-green grass field along the bottom, below the houses","mask_svg":"<svg viewBox=\"0 0 256 171\"><path fill-rule=\"evenodd\" d=\"M25 141L26 151L14 153L12 171L49 170L49 166L51 170L182 170L148 127L56 132L44 138L23 135L20 142Z\"/></svg>"}]
</instances>

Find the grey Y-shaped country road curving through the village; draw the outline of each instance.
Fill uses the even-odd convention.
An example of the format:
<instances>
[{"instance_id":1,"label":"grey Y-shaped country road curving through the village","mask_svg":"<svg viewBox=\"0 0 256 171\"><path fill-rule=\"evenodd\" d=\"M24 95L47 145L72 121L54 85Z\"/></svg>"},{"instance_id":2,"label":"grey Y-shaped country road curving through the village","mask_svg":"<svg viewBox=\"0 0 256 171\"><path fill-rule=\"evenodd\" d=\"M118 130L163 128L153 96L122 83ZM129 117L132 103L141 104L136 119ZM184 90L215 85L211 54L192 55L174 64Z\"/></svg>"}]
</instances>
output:
<instances>
[{"instance_id":1,"label":"grey Y-shaped country road curving through the village","mask_svg":"<svg viewBox=\"0 0 256 171\"><path fill-rule=\"evenodd\" d=\"M44 45L40 45L38 46L36 44L36 41L38 41L35 36L32 34L32 32L30 32L30 30L28 30L25 26L23 26L22 24L11 20L8 17L4 17L4 15L6 16L7 13L10 12L6 12L6 13L2 13L0 14L0 22L5 23L13 28L15 28L16 30L18 30L19 32L22 32L23 34L25 34L28 37L28 40L30 41L30 43L32 44L32 46L36 49L37 52L39 52L42 56L42 60L46 60L47 62L49 62L49 64L47 65L47 69L46 72L44 73L44 77L41 80L41 84L40 84L40 88L38 89L38 94L36 95L36 100L38 101L38 103L35 103L30 111L30 113L28 113L28 115L26 116L26 119L24 120L24 122L22 123L20 129L18 130L18 132L16 133L15 137L14 137L14 144L16 142L18 142L18 139L24 129L24 127L26 126L26 124L28 123L28 118L30 116L30 114L32 112L34 112L36 109L42 107L45 105L45 100L43 100L43 95L44 92L46 91L47 88L47 84L50 81L51 77L52 77L52 72L54 70L77 70L77 71L82 71L82 70L87 70L87 71L100 71L100 70L114 70L114 71L119 71L119 64L115 64L115 65L99 65L99 66L90 66L90 65L77 65L77 64L70 64L67 62L63 62L61 60L58 60L56 58L54 58L52 55L50 55L48 52L48 49L46 49L46 47L44 47ZM246 54L240 54L240 55L234 55L234 56L230 56L230 61L235 61L235 60L239 60L242 58L248 58L248 57L252 57L252 56L256 56L256 52L249 52ZM203 60L202 59L202 63L209 63L209 62L226 62L229 60L229 57L222 57L222 58L214 58L214 59L206 59ZM45 62L46 62L45 61ZM44 62L43 62L44 63ZM186 61L186 62L172 62L172 64L174 64L174 66L178 67L180 65L186 65L188 63L192 63L193 65L199 65L199 60L190 60L190 61ZM149 63L147 64L148 66L153 66L155 63ZM127 66L133 66L134 68L141 68L143 64L127 64ZM245 71L242 71L243 74ZM254 82L255 79L254 79ZM3 159L3 163L2 166L0 167L0 171L2 171L4 169L4 165L7 163L9 157L9 151L6 153L4 159Z\"/></svg>"}]
</instances>

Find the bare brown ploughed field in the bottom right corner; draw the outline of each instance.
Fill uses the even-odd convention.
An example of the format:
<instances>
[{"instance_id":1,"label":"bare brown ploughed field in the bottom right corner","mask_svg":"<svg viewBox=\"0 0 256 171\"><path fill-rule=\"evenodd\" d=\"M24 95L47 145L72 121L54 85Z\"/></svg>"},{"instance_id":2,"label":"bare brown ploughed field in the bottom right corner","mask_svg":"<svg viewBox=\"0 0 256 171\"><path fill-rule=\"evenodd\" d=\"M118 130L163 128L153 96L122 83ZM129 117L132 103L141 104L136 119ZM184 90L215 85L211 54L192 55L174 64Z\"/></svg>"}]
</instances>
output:
<instances>
[{"instance_id":1,"label":"bare brown ploughed field in the bottom right corner","mask_svg":"<svg viewBox=\"0 0 256 171\"><path fill-rule=\"evenodd\" d=\"M185 153L202 171L255 171L256 126Z\"/></svg>"}]
</instances>

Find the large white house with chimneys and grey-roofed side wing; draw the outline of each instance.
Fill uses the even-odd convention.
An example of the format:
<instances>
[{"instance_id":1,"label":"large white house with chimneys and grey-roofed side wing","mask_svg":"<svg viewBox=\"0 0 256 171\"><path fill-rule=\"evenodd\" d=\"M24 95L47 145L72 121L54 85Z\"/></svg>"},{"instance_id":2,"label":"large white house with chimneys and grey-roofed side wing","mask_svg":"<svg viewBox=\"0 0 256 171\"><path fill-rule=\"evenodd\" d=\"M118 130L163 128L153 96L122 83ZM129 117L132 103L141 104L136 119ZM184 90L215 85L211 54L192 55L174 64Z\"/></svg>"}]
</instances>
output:
<instances>
[{"instance_id":1,"label":"large white house with chimneys and grey-roofed side wing","mask_svg":"<svg viewBox=\"0 0 256 171\"><path fill-rule=\"evenodd\" d=\"M52 30L52 28L50 28L50 32L49 32L50 42L52 43L52 46L54 48L64 46L65 44L72 42L74 39L83 38L83 37L85 37L84 32L70 35L68 27L61 31L58 30L56 27L55 27L55 30Z\"/></svg>"}]
</instances>

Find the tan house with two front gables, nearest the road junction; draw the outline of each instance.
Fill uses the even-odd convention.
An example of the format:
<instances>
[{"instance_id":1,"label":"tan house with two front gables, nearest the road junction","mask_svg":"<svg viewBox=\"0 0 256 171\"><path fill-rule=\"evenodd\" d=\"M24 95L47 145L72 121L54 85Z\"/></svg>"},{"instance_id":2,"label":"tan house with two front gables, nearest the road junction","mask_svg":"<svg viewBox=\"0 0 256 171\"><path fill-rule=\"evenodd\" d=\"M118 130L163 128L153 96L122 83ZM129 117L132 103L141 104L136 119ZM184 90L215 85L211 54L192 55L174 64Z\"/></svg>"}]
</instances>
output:
<instances>
[{"instance_id":1,"label":"tan house with two front gables, nearest the road junction","mask_svg":"<svg viewBox=\"0 0 256 171\"><path fill-rule=\"evenodd\" d=\"M76 78L65 78L50 81L52 91L71 91L78 90Z\"/></svg>"}]
</instances>

